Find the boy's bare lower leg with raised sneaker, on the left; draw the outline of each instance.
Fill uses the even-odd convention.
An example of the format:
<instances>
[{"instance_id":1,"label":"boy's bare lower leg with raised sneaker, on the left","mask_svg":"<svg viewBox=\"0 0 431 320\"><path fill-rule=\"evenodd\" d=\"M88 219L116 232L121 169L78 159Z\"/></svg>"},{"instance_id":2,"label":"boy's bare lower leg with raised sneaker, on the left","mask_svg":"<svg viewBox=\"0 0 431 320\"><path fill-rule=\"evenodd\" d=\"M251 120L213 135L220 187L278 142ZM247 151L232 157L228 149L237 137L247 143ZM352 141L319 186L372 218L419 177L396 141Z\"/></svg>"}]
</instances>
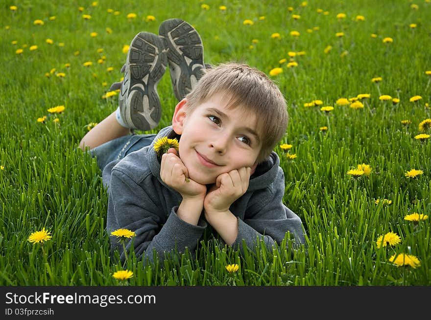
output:
<instances>
[{"instance_id":1,"label":"boy's bare lower leg with raised sneaker, on the left","mask_svg":"<svg viewBox=\"0 0 431 320\"><path fill-rule=\"evenodd\" d=\"M119 85L119 112L114 111L87 132L79 147L93 149L129 134L130 129L155 128L161 117L157 84L166 65L166 50L160 38L148 32L138 33L130 44L126 64L121 68L124 79Z\"/></svg>"}]
</instances>

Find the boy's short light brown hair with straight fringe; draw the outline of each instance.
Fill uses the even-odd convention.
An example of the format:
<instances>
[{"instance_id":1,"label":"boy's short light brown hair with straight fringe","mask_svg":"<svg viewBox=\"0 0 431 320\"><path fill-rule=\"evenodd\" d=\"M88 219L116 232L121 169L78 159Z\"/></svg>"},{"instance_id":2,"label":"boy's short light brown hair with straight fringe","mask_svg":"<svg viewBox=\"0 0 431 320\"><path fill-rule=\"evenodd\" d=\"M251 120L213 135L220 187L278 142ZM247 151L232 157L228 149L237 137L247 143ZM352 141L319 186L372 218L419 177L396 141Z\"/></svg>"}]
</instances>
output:
<instances>
[{"instance_id":1,"label":"boy's short light brown hair with straight fringe","mask_svg":"<svg viewBox=\"0 0 431 320\"><path fill-rule=\"evenodd\" d=\"M287 105L279 87L266 74L247 64L229 62L206 69L196 86L186 95L188 111L222 93L229 98L227 107L244 107L258 119L263 162L286 133Z\"/></svg>"}]
</instances>

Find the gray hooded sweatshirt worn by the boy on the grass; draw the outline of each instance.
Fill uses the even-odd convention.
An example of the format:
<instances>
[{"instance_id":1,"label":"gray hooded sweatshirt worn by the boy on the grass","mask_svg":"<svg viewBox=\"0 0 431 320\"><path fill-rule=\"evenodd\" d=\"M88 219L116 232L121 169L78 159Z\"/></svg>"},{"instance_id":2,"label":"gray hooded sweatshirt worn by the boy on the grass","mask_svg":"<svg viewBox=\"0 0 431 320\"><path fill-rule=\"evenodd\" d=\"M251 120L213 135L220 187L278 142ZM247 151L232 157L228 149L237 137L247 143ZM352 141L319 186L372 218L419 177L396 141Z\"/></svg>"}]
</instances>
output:
<instances>
[{"instance_id":1,"label":"gray hooded sweatshirt worn by the boy on the grass","mask_svg":"<svg viewBox=\"0 0 431 320\"><path fill-rule=\"evenodd\" d=\"M133 241L135 255L144 263L154 261L154 251L160 261L167 258L165 254L185 252L186 247L194 254L208 226L204 214L197 225L177 216L182 196L162 181L160 159L153 149L154 142L163 136L180 138L171 126L163 128L150 146L110 162L102 172L108 188L108 235L120 228L134 231L136 236L126 250ZM283 204L285 182L279 164L277 153L271 152L250 177L248 190L229 208L238 218L238 236L231 246L241 253L243 240L253 250L261 239L272 250L274 242L280 244L287 232L296 245L305 244L301 219ZM221 237L217 239L224 244ZM110 241L111 253L118 250L123 260L123 247L117 237L111 236Z\"/></svg>"}]
</instances>

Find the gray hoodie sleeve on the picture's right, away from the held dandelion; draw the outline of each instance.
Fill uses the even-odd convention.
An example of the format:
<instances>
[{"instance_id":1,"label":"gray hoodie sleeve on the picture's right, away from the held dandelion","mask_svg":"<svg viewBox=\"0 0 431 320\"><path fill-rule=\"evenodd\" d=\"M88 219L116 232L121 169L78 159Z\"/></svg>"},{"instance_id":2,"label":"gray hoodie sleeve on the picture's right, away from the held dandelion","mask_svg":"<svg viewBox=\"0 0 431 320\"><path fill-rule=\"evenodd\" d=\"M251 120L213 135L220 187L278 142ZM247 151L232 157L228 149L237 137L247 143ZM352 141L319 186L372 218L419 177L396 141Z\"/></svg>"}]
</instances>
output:
<instances>
[{"instance_id":1,"label":"gray hoodie sleeve on the picture's right, away from the held dandelion","mask_svg":"<svg viewBox=\"0 0 431 320\"><path fill-rule=\"evenodd\" d=\"M272 251L275 242L280 244L287 232L295 241L296 246L305 244L301 218L283 203L285 191L284 173L278 169L274 182L260 194L252 195L244 219L238 217L238 236L232 246L243 252L242 240L249 249L262 239L266 247Z\"/></svg>"}]
</instances>

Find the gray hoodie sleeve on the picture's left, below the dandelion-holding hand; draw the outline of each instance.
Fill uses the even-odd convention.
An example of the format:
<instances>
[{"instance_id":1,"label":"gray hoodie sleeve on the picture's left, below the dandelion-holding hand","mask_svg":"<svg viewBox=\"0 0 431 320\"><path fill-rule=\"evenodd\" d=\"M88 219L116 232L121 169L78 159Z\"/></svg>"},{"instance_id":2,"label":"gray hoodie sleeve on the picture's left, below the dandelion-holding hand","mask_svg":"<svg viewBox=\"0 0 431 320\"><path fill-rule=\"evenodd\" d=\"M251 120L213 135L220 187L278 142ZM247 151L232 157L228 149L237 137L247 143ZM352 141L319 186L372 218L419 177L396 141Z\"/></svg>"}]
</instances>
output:
<instances>
[{"instance_id":1,"label":"gray hoodie sleeve on the picture's left, below the dandelion-holding hand","mask_svg":"<svg viewBox=\"0 0 431 320\"><path fill-rule=\"evenodd\" d=\"M148 186L151 190L151 186ZM120 170L113 169L108 188L107 232L110 235L111 254L120 253L120 260L125 260L123 246L111 232L123 228L135 232L135 237L125 243L126 252L133 250L137 258L143 258L144 264L154 262L153 251L160 261L165 253L176 251L183 253L188 247L191 253L196 249L206 222L200 220L198 225L189 224L180 219L173 207L170 214L164 212L157 199Z\"/></svg>"}]
</instances>

